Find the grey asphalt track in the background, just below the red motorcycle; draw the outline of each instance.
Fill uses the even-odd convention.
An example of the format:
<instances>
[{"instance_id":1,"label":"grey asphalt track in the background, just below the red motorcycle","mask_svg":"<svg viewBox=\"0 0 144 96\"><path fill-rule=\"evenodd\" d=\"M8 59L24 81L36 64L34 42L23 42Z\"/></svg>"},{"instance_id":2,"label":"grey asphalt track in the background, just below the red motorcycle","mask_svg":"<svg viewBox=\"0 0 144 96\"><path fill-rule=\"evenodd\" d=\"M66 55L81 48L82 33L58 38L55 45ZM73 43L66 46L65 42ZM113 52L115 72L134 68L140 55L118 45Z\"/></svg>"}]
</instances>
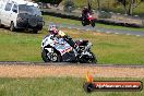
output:
<instances>
[{"instance_id":1,"label":"grey asphalt track in the background, just below the red motorcycle","mask_svg":"<svg viewBox=\"0 0 144 96\"><path fill-rule=\"evenodd\" d=\"M128 31L128 29L115 29L115 28L101 28L101 27L92 27L89 25L82 26L82 25L73 25L73 24L57 24L52 22L47 22L47 26L50 24L56 24L59 27L64 28L73 28L73 29L81 29L81 31L94 31L98 33L107 33L107 34L124 34L124 35L134 35L134 36L144 36L144 31Z\"/></svg>"}]
</instances>

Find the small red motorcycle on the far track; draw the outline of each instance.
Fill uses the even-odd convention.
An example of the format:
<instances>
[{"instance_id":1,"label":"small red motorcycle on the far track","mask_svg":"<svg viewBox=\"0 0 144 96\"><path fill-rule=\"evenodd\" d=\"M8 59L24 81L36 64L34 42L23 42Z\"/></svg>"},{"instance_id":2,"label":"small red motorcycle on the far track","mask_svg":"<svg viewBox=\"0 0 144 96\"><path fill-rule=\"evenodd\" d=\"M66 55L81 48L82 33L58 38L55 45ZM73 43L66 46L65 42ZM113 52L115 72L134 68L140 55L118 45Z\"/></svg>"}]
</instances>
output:
<instances>
[{"instance_id":1,"label":"small red motorcycle on the far track","mask_svg":"<svg viewBox=\"0 0 144 96\"><path fill-rule=\"evenodd\" d=\"M92 25L95 27L95 17L92 15L92 13L87 13L86 19L82 17L82 25Z\"/></svg>"}]
</instances>

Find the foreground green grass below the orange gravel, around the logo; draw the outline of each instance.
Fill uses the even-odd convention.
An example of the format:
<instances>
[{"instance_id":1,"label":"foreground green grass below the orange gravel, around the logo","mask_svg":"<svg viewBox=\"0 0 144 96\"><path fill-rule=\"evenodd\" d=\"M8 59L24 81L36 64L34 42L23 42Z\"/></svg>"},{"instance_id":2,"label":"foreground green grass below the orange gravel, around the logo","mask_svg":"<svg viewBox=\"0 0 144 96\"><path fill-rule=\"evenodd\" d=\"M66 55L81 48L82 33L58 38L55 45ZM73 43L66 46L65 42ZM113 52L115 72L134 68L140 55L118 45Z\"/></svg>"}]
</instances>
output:
<instances>
[{"instance_id":1,"label":"foreground green grass below the orange gravel, around the logo","mask_svg":"<svg viewBox=\"0 0 144 96\"><path fill-rule=\"evenodd\" d=\"M104 79L96 81L142 81L144 79ZM85 79L41 77L41 79L0 79L0 96L144 96L141 92L94 92L85 93Z\"/></svg>"}]
</instances>

